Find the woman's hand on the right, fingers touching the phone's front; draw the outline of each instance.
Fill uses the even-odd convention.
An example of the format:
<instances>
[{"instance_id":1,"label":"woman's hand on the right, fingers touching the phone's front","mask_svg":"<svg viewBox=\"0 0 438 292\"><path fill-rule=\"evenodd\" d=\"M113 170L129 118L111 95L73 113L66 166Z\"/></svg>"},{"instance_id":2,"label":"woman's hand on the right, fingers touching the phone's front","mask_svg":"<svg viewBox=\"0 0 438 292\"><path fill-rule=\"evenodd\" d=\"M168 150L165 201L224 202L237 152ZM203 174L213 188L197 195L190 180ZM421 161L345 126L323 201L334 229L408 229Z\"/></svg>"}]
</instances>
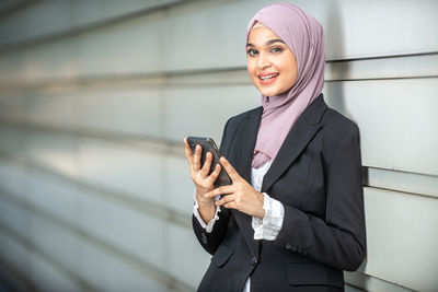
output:
<instances>
[{"instance_id":1,"label":"woman's hand on the right, fingers touching the phone's front","mask_svg":"<svg viewBox=\"0 0 438 292\"><path fill-rule=\"evenodd\" d=\"M218 200L216 205L262 219L265 215L265 210L263 209L264 196L243 179L226 157L220 157L220 163L230 176L232 184L215 188L206 192L205 196L214 198L218 195L227 195Z\"/></svg>"}]
</instances>

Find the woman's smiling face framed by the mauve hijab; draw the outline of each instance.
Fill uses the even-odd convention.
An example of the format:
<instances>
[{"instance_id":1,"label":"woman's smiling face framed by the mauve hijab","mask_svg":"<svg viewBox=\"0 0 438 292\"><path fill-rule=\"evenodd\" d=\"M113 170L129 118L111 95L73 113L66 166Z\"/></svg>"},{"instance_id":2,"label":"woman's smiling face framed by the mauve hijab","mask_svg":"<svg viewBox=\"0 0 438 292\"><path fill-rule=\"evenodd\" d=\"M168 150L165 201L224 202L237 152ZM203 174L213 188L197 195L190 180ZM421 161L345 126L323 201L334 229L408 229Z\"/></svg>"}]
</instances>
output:
<instances>
[{"instance_id":1,"label":"woman's smiling face framed by the mauve hijab","mask_svg":"<svg viewBox=\"0 0 438 292\"><path fill-rule=\"evenodd\" d=\"M254 85L265 96L284 93L297 79L293 52L273 31L261 23L256 23L250 31L246 66Z\"/></svg>"}]
</instances>

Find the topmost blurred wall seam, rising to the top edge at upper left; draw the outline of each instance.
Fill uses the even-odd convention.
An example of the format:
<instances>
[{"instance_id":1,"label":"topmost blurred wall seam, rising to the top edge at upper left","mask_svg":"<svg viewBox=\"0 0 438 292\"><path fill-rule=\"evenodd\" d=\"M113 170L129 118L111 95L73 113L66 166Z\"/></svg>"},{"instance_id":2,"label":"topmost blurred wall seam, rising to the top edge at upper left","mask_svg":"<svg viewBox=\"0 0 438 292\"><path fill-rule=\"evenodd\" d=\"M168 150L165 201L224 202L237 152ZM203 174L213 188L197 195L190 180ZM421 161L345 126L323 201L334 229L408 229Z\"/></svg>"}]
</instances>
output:
<instances>
[{"instance_id":1,"label":"topmost blurred wall seam, rising to the top edge at upper left","mask_svg":"<svg viewBox=\"0 0 438 292\"><path fill-rule=\"evenodd\" d=\"M134 12L128 12L128 13L125 13L122 15L112 16L112 17L104 19L101 21L94 21L94 22L88 23L88 24L79 24L79 25L70 27L66 31L55 32L55 33L46 33L43 35L38 35L36 37L35 36L30 37L30 38L22 39L22 40L15 42L15 43L1 44L0 45L0 56L5 55L11 51L15 52L15 51L28 49L31 46L38 46L38 45L43 45L43 44L58 40L61 38L68 38L68 37L81 35L81 34L88 33L90 31L94 31L94 30L110 26L110 25L113 25L116 23L132 20L136 17L140 17L140 16L143 16L147 14L154 13L157 11L164 11L166 9L171 9L171 8L174 8L174 7L187 3L187 2L192 2L192 1L196 1L196 0L182 0L178 2L174 2L174 3L164 3L164 4L158 4L158 5L149 7L149 8L145 8L145 9L138 9L137 11L134 11Z\"/></svg>"}]
</instances>

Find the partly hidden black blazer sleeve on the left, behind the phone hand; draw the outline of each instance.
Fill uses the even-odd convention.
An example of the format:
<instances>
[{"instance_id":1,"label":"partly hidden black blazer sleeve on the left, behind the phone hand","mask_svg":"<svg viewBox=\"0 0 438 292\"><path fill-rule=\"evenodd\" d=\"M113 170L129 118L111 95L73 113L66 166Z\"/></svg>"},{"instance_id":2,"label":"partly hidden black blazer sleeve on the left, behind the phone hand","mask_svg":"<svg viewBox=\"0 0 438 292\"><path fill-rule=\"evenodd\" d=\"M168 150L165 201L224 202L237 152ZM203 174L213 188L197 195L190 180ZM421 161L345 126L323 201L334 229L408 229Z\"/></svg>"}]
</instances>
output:
<instances>
[{"instance_id":1,"label":"partly hidden black blazer sleeve on the left, behind the phone hand","mask_svg":"<svg viewBox=\"0 0 438 292\"><path fill-rule=\"evenodd\" d=\"M223 133L222 133L222 139L220 142L220 148L219 151L221 155L227 155L227 149L229 148L229 138L230 138L230 121L232 118L230 118L224 128L223 128ZM206 229L204 229L199 221L196 219L195 215L192 215L192 226L195 232L195 235L200 243L200 245L204 247L204 249L209 253L209 254L215 254L216 249L219 247L220 243L222 242L223 237L227 235L227 229L228 224L230 221L230 215L231 212L227 208L221 208L221 211L218 212L219 219L215 222L215 225L212 226L211 232L207 232Z\"/></svg>"}]
</instances>

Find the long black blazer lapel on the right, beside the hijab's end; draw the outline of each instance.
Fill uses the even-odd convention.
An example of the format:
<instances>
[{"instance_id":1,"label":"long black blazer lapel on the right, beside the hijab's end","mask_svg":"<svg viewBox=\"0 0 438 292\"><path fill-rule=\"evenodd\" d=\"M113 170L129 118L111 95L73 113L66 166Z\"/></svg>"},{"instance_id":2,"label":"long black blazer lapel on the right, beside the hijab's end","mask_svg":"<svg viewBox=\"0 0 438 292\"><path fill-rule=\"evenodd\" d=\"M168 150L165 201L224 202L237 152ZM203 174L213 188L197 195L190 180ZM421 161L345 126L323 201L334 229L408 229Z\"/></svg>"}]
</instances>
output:
<instances>
[{"instance_id":1,"label":"long black blazer lapel on the right, beside the hijab's end","mask_svg":"<svg viewBox=\"0 0 438 292\"><path fill-rule=\"evenodd\" d=\"M300 115L263 178L262 192L269 189L322 127L320 121L326 107L321 94Z\"/></svg>"}]
</instances>

